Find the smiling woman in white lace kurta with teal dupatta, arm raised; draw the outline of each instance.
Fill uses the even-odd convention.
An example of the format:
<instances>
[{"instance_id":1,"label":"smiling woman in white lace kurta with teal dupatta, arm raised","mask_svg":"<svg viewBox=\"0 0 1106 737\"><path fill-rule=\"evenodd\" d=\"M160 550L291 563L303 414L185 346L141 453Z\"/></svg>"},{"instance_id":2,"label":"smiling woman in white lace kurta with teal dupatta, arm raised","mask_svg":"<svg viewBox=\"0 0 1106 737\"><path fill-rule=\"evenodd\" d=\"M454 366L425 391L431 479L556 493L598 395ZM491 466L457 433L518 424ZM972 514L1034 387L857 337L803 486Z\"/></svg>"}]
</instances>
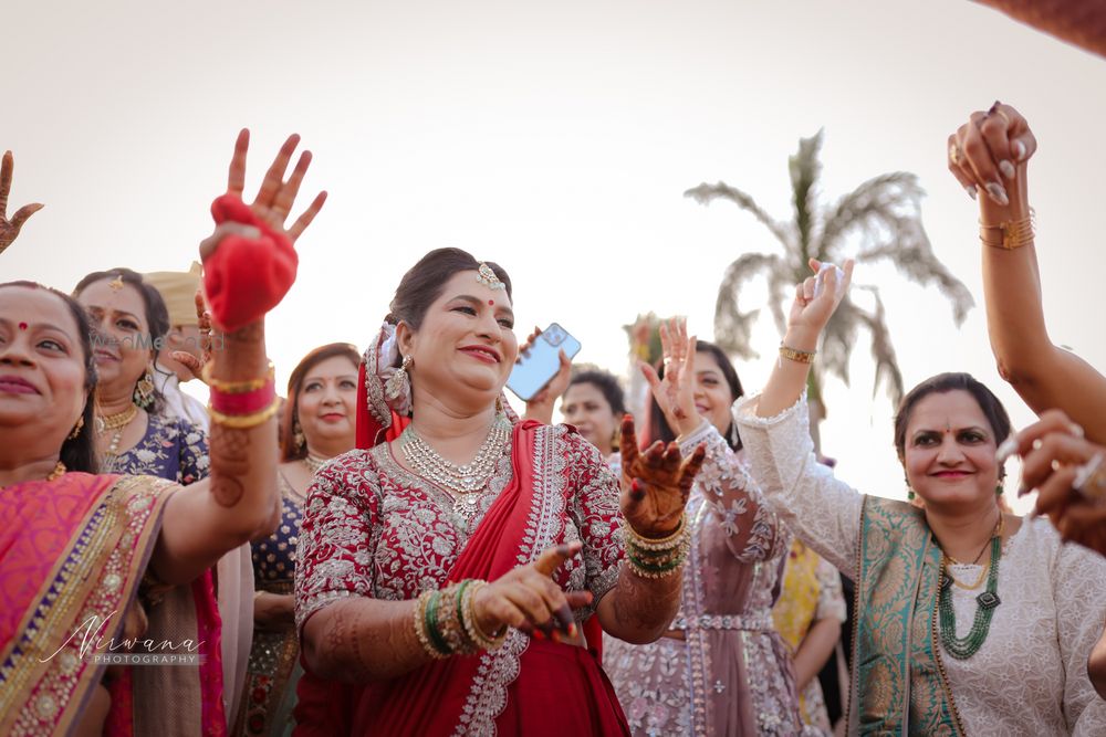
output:
<instances>
[{"instance_id":1,"label":"smiling woman in white lace kurta with teal dupatta, arm raised","mask_svg":"<svg viewBox=\"0 0 1106 737\"><path fill-rule=\"evenodd\" d=\"M851 271L823 271L818 296L813 280L800 287L782 360L763 394L734 410L765 497L856 581L851 734L1106 734L1106 702L1086 675L1106 613L1106 562L1064 546L1045 520L1001 516L995 446L1010 421L985 387L940 375L904 399L896 446L924 510L862 496L817 463L803 387ZM977 600L984 578L991 591L992 565L997 599ZM981 643L963 649L943 623L938 636L950 594L956 638L990 608Z\"/></svg>"}]
</instances>

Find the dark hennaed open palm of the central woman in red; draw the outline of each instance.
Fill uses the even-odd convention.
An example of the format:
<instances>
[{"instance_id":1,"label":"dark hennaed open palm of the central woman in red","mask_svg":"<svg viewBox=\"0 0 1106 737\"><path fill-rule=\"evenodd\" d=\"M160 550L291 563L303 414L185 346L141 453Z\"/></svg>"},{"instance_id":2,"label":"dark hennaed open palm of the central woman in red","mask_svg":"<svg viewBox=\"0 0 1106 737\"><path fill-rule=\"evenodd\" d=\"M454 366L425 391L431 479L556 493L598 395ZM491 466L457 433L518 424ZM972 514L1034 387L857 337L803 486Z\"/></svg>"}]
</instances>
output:
<instances>
[{"instance_id":1,"label":"dark hennaed open palm of the central woman in red","mask_svg":"<svg viewBox=\"0 0 1106 737\"><path fill-rule=\"evenodd\" d=\"M680 524L684 507L691 494L691 484L707 456L706 445L699 445L687 459L680 446L659 440L644 453L637 449L634 418L627 414L622 423L622 513L634 530L649 538L671 535Z\"/></svg>"}]
</instances>

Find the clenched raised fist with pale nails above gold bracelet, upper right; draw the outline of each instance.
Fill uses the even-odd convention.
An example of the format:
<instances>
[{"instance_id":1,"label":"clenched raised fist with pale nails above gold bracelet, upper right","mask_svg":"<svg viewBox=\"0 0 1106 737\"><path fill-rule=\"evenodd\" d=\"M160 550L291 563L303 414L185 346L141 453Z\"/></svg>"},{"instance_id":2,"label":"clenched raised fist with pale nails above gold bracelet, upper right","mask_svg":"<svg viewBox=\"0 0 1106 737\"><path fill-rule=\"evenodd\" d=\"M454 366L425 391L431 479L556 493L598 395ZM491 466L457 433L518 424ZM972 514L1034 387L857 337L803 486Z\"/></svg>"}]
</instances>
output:
<instances>
[{"instance_id":1,"label":"clenched raised fist with pale nails above gold bracelet, upper right","mask_svg":"<svg viewBox=\"0 0 1106 737\"><path fill-rule=\"evenodd\" d=\"M949 171L975 199L980 193L999 208L1025 196L1025 165L1036 151L1036 137L1021 113L995 102L977 110L948 138ZM982 202L981 202L982 203Z\"/></svg>"}]
</instances>

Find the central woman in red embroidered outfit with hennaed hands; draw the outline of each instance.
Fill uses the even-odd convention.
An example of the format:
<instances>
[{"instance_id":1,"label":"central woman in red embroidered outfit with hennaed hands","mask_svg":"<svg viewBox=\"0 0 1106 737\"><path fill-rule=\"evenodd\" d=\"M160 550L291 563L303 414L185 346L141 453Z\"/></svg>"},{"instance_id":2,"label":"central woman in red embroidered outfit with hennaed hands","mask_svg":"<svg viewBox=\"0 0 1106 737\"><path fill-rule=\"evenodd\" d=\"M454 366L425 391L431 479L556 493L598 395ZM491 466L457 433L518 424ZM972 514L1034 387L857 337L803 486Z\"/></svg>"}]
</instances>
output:
<instances>
[{"instance_id":1,"label":"central woman in red embroidered outfit with hennaed hands","mask_svg":"<svg viewBox=\"0 0 1106 737\"><path fill-rule=\"evenodd\" d=\"M463 251L400 282L362 365L361 450L307 495L296 734L627 734L574 621L665 631L702 451L639 454L627 418L619 493L573 430L502 403L512 324L507 274Z\"/></svg>"}]
</instances>

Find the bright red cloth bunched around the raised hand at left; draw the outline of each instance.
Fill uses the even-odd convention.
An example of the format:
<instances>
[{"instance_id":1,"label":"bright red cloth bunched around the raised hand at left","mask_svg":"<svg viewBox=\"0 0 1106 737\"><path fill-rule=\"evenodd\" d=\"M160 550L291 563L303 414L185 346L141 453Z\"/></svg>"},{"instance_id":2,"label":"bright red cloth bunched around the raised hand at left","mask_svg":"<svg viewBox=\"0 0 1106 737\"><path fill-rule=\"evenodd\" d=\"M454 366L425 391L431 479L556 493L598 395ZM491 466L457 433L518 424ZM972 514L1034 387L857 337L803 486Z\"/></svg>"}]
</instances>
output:
<instances>
[{"instance_id":1,"label":"bright red cloth bunched around the raised hand at left","mask_svg":"<svg viewBox=\"0 0 1106 737\"><path fill-rule=\"evenodd\" d=\"M233 331L280 304L295 282L299 257L292 241L258 218L237 194L216 198L211 215L217 225L230 221L261 231L255 239L227 235L204 263L211 318L221 329Z\"/></svg>"}]
</instances>

